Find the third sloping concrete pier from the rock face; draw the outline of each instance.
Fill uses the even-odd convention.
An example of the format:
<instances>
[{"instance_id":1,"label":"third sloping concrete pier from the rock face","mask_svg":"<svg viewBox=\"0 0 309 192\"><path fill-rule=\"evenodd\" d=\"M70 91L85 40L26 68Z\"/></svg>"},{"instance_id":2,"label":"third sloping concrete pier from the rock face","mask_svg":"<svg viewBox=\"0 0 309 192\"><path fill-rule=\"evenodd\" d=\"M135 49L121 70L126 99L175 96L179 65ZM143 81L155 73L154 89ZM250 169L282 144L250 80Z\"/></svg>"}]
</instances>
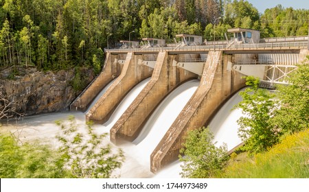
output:
<instances>
[{"instance_id":1,"label":"third sloping concrete pier from the rock face","mask_svg":"<svg viewBox=\"0 0 309 192\"><path fill-rule=\"evenodd\" d=\"M111 141L119 139L133 141L138 136L144 123L163 98L181 83L197 78L198 75L172 66L177 56L160 52L150 82L139 93L111 129Z\"/></svg>"}]
</instances>

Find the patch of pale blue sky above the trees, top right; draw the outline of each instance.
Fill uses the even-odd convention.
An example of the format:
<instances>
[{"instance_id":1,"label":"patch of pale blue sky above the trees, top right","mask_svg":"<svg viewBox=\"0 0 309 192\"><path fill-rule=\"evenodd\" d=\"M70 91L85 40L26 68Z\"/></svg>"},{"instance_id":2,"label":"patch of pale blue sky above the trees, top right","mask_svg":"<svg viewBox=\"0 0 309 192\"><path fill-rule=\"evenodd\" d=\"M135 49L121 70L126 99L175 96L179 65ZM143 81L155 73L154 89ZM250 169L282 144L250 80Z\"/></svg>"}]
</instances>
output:
<instances>
[{"instance_id":1,"label":"patch of pale blue sky above the trees, top right","mask_svg":"<svg viewBox=\"0 0 309 192\"><path fill-rule=\"evenodd\" d=\"M274 8L276 5L281 4L284 8L306 9L309 10L309 0L247 0L260 13L264 13L266 8Z\"/></svg>"}]
</instances>

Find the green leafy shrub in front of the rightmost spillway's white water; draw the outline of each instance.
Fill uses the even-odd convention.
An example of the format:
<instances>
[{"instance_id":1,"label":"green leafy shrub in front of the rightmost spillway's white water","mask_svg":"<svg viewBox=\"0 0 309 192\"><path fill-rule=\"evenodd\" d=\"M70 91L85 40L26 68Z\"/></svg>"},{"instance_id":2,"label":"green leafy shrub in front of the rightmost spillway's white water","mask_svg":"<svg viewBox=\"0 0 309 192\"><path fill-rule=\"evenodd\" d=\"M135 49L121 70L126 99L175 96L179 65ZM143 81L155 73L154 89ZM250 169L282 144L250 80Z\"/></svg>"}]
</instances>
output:
<instances>
[{"instance_id":1,"label":"green leafy shrub in front of the rightmost spillway's white water","mask_svg":"<svg viewBox=\"0 0 309 192\"><path fill-rule=\"evenodd\" d=\"M237 121L240 125L238 136L245 143L244 149L251 153L266 151L279 141L280 136L279 130L271 125L274 95L258 88L258 84L255 77L247 77L247 85L251 87L240 92L243 100L236 105L244 115Z\"/></svg>"}]
</instances>

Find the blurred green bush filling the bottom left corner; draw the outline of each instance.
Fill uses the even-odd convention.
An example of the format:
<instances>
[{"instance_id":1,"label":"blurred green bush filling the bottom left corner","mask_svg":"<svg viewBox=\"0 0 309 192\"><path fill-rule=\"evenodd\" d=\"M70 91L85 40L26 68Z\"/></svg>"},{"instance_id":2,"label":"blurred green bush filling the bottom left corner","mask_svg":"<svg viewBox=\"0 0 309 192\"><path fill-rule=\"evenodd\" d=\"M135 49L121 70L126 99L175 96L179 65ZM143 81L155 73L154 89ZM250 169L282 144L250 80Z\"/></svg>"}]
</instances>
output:
<instances>
[{"instance_id":1,"label":"blurred green bush filling the bottom left corner","mask_svg":"<svg viewBox=\"0 0 309 192\"><path fill-rule=\"evenodd\" d=\"M19 143L0 134L0 178L67 178L60 156L47 145Z\"/></svg>"}]
</instances>

